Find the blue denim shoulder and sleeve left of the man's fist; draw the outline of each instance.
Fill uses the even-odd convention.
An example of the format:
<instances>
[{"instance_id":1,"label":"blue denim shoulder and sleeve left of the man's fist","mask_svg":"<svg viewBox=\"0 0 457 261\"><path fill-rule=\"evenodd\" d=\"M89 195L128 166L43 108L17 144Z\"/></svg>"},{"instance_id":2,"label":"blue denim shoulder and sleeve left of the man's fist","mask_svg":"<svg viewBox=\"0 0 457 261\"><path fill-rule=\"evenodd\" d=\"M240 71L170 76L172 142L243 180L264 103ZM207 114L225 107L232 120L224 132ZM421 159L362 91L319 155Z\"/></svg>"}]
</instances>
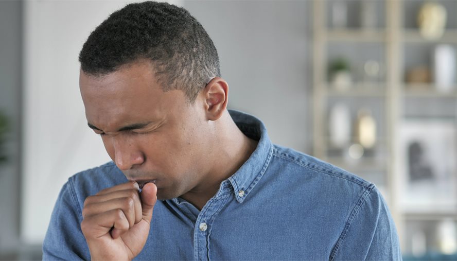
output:
<instances>
[{"instance_id":1,"label":"blue denim shoulder and sleeve left of the man's fist","mask_svg":"<svg viewBox=\"0 0 457 261\"><path fill-rule=\"evenodd\" d=\"M125 182L113 162L70 177L60 190L43 241L44 260L89 260L90 254L80 223L84 200L103 188Z\"/></svg>"}]
</instances>

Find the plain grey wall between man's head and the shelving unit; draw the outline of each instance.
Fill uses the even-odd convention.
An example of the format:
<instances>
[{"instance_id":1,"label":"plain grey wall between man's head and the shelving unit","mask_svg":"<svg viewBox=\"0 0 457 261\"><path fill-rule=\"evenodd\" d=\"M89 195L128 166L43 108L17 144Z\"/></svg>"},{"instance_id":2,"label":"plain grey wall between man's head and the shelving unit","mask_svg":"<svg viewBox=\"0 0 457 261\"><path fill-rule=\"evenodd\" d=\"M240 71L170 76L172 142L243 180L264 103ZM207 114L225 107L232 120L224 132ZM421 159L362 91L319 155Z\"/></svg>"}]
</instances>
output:
<instances>
[{"instance_id":1,"label":"plain grey wall between man's head and the shelving unit","mask_svg":"<svg viewBox=\"0 0 457 261\"><path fill-rule=\"evenodd\" d=\"M311 1L185 1L207 30L228 106L259 117L271 140L310 152Z\"/></svg>"}]
</instances>

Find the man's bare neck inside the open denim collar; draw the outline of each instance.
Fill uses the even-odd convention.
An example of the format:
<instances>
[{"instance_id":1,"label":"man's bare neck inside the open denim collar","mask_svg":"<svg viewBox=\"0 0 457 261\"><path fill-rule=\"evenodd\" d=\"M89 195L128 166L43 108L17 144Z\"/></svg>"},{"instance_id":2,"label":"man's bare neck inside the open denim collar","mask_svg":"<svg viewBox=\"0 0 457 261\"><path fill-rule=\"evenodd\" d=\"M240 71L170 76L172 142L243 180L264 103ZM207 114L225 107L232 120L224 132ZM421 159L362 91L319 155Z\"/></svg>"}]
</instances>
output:
<instances>
[{"instance_id":1,"label":"man's bare neck inside the open denim collar","mask_svg":"<svg viewBox=\"0 0 457 261\"><path fill-rule=\"evenodd\" d=\"M216 125L214 136L217 145L212 149L211 160L206 163L209 170L200 184L181 196L199 210L217 193L221 182L231 177L257 147L257 141L238 129L228 111L217 120Z\"/></svg>"}]
</instances>

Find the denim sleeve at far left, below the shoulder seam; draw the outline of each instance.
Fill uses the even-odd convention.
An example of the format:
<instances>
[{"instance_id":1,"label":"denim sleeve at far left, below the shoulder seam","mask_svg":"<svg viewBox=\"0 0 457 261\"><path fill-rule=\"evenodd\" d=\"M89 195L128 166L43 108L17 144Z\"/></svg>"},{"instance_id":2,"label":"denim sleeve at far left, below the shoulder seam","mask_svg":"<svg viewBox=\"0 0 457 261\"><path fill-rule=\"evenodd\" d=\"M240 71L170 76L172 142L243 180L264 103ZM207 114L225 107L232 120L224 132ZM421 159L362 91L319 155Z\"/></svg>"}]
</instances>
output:
<instances>
[{"instance_id":1,"label":"denim sleeve at far left, below the shoulder seam","mask_svg":"<svg viewBox=\"0 0 457 261\"><path fill-rule=\"evenodd\" d=\"M43 241L43 260L89 260L90 252L81 231L81 208L72 180L60 191Z\"/></svg>"}]
</instances>

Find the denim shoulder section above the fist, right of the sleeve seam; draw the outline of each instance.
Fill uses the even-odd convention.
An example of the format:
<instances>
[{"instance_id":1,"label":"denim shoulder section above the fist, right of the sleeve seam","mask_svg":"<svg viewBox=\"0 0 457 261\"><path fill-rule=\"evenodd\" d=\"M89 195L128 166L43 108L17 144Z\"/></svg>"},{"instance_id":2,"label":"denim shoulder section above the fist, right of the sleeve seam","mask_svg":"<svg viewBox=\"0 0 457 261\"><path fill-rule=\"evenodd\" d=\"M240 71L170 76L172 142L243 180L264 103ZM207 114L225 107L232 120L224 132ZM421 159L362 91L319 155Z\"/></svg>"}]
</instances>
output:
<instances>
[{"instance_id":1,"label":"denim shoulder section above the fist, right of the sleeve seam","mask_svg":"<svg viewBox=\"0 0 457 261\"><path fill-rule=\"evenodd\" d=\"M70 177L65 184L82 206L86 197L97 194L100 190L127 182L124 174L113 162L87 169Z\"/></svg>"}]
</instances>

